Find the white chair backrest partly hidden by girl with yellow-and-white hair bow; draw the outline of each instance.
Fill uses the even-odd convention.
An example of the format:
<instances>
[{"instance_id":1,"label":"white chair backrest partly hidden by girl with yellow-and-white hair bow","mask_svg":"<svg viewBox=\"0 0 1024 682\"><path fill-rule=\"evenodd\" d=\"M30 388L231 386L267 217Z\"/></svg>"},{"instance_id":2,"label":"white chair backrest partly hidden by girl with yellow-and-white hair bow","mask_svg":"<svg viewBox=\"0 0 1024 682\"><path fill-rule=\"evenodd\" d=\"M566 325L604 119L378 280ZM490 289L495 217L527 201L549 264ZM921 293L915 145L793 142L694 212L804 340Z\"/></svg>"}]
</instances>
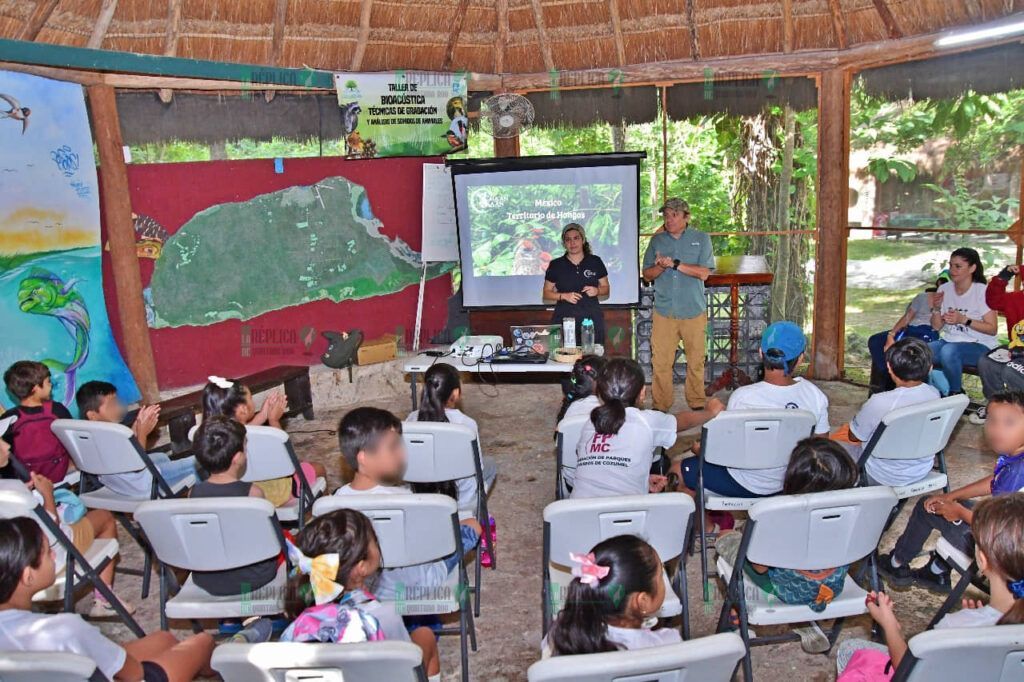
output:
<instances>
[{"instance_id":1,"label":"white chair backrest partly hidden by girl with yellow-and-white hair bow","mask_svg":"<svg viewBox=\"0 0 1024 682\"><path fill-rule=\"evenodd\" d=\"M459 508L446 495L331 495L313 504L313 516L354 509L374 524L385 568L436 561L456 551Z\"/></svg>"}]
</instances>

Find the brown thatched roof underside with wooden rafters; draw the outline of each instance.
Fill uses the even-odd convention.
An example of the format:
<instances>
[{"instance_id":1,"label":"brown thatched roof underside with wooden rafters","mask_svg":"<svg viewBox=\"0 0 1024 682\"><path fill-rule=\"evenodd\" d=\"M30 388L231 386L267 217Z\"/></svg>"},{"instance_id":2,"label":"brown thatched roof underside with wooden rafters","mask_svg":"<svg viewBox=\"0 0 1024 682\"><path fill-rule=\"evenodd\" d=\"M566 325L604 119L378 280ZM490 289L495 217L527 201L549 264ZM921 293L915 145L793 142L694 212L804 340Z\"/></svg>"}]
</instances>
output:
<instances>
[{"instance_id":1,"label":"brown thatched roof underside with wooden rafters","mask_svg":"<svg viewBox=\"0 0 1024 682\"><path fill-rule=\"evenodd\" d=\"M335 71L523 74L854 47L1021 9L1022 0L0 0L0 37Z\"/></svg>"}]
</instances>

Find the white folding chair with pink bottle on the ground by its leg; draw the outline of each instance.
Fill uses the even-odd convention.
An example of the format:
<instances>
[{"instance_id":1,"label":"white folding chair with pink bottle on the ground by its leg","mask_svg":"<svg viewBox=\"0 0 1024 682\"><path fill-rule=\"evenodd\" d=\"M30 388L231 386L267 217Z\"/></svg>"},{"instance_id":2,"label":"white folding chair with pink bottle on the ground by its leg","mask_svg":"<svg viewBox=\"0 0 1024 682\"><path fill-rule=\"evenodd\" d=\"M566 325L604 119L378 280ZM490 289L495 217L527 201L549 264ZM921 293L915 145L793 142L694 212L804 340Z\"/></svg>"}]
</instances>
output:
<instances>
[{"instance_id":1,"label":"white folding chair with pink bottle on the ground by its leg","mask_svg":"<svg viewBox=\"0 0 1024 682\"><path fill-rule=\"evenodd\" d=\"M408 483L437 483L472 477L476 481L474 514L490 536L490 514L487 511L487 491L483 484L483 464L480 443L468 426L444 422L403 422L401 437L406 441L406 473ZM490 569L498 568L498 554L490 547ZM480 615L481 564L480 551L473 563L473 615Z\"/></svg>"}]
</instances>

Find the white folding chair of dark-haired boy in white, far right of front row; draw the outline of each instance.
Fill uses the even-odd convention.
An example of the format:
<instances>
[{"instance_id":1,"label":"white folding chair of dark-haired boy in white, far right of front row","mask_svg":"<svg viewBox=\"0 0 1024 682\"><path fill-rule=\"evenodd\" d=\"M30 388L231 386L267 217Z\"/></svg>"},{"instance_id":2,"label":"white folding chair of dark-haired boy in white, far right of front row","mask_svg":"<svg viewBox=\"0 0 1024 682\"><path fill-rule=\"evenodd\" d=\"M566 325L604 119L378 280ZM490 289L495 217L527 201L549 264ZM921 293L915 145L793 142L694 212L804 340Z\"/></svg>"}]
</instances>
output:
<instances>
[{"instance_id":1,"label":"white folding chair of dark-haired boy in white, far right of front row","mask_svg":"<svg viewBox=\"0 0 1024 682\"><path fill-rule=\"evenodd\" d=\"M862 484L866 485L863 472L870 457L880 460L920 460L928 457L936 460L938 471L932 471L907 485L894 485L896 497L902 501L940 488L948 491L944 451L970 402L967 395L950 395L893 410L886 415L861 453Z\"/></svg>"}]
</instances>

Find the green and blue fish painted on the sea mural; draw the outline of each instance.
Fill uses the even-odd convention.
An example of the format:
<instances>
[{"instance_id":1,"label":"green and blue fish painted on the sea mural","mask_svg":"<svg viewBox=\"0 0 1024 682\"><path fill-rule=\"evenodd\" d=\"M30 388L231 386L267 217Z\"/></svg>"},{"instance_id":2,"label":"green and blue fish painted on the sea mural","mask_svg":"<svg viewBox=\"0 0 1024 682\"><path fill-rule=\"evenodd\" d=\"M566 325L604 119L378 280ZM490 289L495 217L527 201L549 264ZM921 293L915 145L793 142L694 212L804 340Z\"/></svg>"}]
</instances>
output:
<instances>
[{"instance_id":1,"label":"green and blue fish painted on the sea mural","mask_svg":"<svg viewBox=\"0 0 1024 682\"><path fill-rule=\"evenodd\" d=\"M56 317L75 342L71 361L47 358L43 360L51 372L63 374L65 395L61 400L71 404L75 399L76 376L89 356L89 311L85 300L75 291L77 280L62 282L47 269L34 268L18 285L17 305L22 312Z\"/></svg>"}]
</instances>

